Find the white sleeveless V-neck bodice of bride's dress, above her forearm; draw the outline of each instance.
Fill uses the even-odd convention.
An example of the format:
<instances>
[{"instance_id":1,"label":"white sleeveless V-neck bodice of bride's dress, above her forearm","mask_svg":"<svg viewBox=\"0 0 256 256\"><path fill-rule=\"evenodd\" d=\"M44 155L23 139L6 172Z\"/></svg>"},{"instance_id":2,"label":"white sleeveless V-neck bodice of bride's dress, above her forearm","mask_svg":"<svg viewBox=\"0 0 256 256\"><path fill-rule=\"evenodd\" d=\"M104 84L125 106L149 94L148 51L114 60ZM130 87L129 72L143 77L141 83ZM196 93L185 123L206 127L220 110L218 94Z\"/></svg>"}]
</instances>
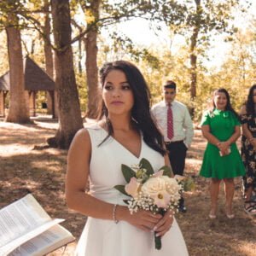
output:
<instances>
[{"instance_id":1,"label":"white sleeveless V-neck bodice of bride's dress, above her forearm","mask_svg":"<svg viewBox=\"0 0 256 256\"><path fill-rule=\"evenodd\" d=\"M114 189L115 185L125 184L125 178L121 172L121 165L131 166L138 164L142 158L147 158L154 170L165 165L164 158L153 149L149 148L142 139L141 152L137 158L121 143L113 137L108 137L108 132L99 125L93 125L87 129L90 134L91 158L90 158L90 193L96 198L115 204L125 205L125 195ZM101 144L99 146L99 144Z\"/></svg>"}]
</instances>

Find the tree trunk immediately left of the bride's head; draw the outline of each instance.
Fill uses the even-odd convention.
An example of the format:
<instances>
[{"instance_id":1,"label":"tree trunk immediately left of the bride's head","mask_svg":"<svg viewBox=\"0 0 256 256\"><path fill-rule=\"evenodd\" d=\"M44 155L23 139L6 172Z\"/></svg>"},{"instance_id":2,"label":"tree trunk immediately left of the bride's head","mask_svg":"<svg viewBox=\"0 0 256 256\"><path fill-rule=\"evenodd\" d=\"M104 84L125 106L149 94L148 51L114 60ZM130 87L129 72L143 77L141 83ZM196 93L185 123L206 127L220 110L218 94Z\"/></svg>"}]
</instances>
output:
<instances>
[{"instance_id":1,"label":"tree trunk immediately left of the bride's head","mask_svg":"<svg viewBox=\"0 0 256 256\"><path fill-rule=\"evenodd\" d=\"M99 19L100 0L90 1L90 12L94 20ZM91 26L89 23L88 26ZM85 38L86 50L86 84L88 91L87 112L86 116L89 118L96 118L97 102L98 102L98 67L97 67L97 26L92 26L90 32Z\"/></svg>"}]
</instances>

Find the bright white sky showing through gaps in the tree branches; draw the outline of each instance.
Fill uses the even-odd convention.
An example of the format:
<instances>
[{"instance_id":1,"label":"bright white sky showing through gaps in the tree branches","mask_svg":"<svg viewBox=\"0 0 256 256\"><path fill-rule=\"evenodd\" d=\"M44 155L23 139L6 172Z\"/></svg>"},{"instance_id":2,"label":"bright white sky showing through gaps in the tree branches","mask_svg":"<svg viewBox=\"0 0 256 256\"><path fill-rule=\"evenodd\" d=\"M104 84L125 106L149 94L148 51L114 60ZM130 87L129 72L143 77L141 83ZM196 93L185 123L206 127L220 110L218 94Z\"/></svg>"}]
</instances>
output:
<instances>
[{"instance_id":1,"label":"bright white sky showing through gaps in the tree branches","mask_svg":"<svg viewBox=\"0 0 256 256\"><path fill-rule=\"evenodd\" d=\"M116 0L113 0L113 2L116 2ZM241 14L236 15L235 26L237 27L246 28L253 15L255 18L256 1L250 0L248 2L252 3L249 13L244 16ZM157 26L160 26L161 30L158 30ZM113 30L131 38L137 47L143 46L154 49L154 51L160 51L164 47L174 53L180 45L184 44L184 38L177 36L172 38L165 24L150 23L148 20L138 18L113 26ZM102 32L102 34L106 35L106 32ZM210 61L207 61L205 64L207 67L218 67L224 61L225 55L230 49L230 44L224 43L224 35L218 35L212 38L211 44L210 49L207 51Z\"/></svg>"}]
</instances>

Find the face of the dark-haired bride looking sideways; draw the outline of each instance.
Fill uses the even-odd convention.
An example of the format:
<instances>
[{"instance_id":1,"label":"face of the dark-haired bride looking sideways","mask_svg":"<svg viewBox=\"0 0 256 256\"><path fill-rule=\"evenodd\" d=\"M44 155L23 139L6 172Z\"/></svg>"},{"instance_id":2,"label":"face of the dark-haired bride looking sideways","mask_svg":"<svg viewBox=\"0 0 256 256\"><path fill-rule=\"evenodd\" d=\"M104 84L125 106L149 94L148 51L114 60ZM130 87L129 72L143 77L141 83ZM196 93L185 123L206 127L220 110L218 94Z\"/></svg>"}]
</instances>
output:
<instances>
[{"instance_id":1,"label":"face of the dark-haired bride looking sideways","mask_svg":"<svg viewBox=\"0 0 256 256\"><path fill-rule=\"evenodd\" d=\"M102 98L109 114L131 113L134 96L125 73L120 70L108 73L102 88Z\"/></svg>"}]
</instances>

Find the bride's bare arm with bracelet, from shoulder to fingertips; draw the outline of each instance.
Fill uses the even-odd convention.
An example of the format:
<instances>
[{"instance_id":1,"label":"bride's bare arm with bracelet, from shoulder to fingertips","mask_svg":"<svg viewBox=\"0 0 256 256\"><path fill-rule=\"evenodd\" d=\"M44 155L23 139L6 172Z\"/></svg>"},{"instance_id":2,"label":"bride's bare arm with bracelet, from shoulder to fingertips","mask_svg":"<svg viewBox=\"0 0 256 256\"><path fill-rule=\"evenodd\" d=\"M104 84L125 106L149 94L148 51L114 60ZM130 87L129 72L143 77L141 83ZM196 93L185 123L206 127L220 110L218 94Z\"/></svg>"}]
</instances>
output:
<instances>
[{"instance_id":1,"label":"bride's bare arm with bracelet, from shoulder to fingertips","mask_svg":"<svg viewBox=\"0 0 256 256\"><path fill-rule=\"evenodd\" d=\"M130 214L127 207L101 201L85 192L89 177L91 144L86 129L78 131L67 154L66 200L67 206L86 216L102 219L125 220L143 230L151 230L160 219L151 212Z\"/></svg>"}]
</instances>

